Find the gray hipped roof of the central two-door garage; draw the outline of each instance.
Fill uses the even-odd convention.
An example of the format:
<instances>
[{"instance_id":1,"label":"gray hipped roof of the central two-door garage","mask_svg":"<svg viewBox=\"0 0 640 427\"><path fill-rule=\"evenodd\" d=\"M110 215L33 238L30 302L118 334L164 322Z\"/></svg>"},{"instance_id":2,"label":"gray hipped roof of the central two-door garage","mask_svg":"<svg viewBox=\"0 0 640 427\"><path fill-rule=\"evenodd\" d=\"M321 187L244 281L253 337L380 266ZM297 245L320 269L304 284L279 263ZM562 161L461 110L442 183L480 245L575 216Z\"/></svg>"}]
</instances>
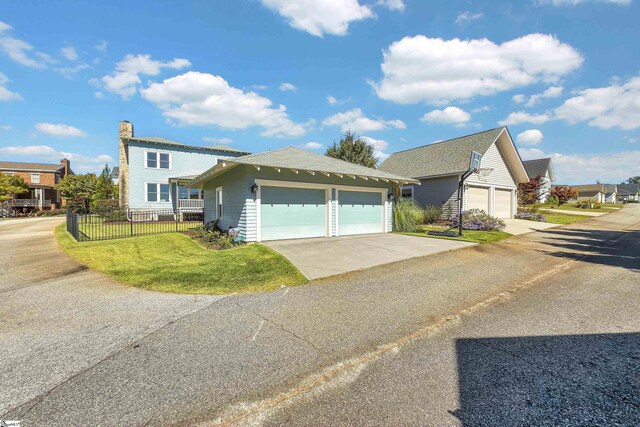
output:
<instances>
[{"instance_id":1,"label":"gray hipped roof of the central two-door garage","mask_svg":"<svg viewBox=\"0 0 640 427\"><path fill-rule=\"evenodd\" d=\"M302 172L317 172L325 175L333 174L340 177L371 178L399 184L418 183L415 179L384 172L379 169L356 165L296 147L286 147L279 150L250 154L248 156L235 157L222 161L206 172L198 175L190 185L197 186L214 176L226 172L230 169L229 166L237 165L251 165L257 169L260 167L270 167L275 169L292 169Z\"/></svg>"}]
</instances>

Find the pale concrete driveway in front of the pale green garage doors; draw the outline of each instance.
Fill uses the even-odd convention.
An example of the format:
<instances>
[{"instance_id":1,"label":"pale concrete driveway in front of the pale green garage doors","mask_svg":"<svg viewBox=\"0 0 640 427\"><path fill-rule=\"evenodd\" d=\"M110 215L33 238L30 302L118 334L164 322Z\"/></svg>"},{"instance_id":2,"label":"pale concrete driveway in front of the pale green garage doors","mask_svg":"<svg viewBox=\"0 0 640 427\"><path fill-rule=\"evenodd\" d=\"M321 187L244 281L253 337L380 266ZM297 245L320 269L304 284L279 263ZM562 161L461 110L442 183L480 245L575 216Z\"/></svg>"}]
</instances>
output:
<instances>
[{"instance_id":1,"label":"pale concrete driveway in front of the pale green garage doors","mask_svg":"<svg viewBox=\"0 0 640 427\"><path fill-rule=\"evenodd\" d=\"M444 239L367 234L321 239L277 240L265 245L286 256L308 279L473 246Z\"/></svg>"}]
</instances>

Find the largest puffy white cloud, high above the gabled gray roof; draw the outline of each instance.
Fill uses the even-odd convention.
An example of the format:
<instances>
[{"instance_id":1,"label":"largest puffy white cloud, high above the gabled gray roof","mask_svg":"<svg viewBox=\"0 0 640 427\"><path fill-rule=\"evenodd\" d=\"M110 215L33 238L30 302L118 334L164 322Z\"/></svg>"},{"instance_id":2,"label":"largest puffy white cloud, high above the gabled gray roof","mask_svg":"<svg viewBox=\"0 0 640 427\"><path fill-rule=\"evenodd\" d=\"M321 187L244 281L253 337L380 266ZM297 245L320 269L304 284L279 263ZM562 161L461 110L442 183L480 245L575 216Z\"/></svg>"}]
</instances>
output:
<instances>
[{"instance_id":1,"label":"largest puffy white cloud, high above the gabled gray roof","mask_svg":"<svg viewBox=\"0 0 640 427\"><path fill-rule=\"evenodd\" d=\"M502 44L418 35L392 43L384 52L383 79L370 83L388 101L444 104L553 82L582 61L576 49L547 34Z\"/></svg>"}]
</instances>

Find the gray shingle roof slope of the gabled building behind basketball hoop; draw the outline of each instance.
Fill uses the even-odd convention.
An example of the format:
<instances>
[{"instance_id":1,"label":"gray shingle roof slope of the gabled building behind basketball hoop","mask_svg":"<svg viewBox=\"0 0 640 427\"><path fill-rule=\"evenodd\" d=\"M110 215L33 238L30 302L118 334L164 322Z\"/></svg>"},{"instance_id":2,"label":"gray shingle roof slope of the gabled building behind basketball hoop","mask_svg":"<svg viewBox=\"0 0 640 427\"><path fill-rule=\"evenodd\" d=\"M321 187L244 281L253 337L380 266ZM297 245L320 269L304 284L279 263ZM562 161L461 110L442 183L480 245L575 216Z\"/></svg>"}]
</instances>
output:
<instances>
[{"instance_id":1,"label":"gray shingle roof slope of the gabled building behind basketball hoop","mask_svg":"<svg viewBox=\"0 0 640 427\"><path fill-rule=\"evenodd\" d=\"M500 127L399 151L390 155L380 165L380 170L412 178L463 173L469 168L471 152L484 155L504 129Z\"/></svg>"}]
</instances>

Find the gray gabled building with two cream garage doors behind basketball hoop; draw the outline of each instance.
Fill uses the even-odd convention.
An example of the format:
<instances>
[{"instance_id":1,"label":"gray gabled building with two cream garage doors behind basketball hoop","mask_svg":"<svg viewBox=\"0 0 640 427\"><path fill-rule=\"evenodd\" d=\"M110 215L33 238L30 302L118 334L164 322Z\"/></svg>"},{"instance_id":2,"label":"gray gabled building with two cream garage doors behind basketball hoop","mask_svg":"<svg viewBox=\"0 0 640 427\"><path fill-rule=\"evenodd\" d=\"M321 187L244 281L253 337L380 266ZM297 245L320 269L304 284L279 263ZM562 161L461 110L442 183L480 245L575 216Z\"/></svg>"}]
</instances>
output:
<instances>
[{"instance_id":1,"label":"gray gabled building with two cream garage doors behind basketball hoop","mask_svg":"<svg viewBox=\"0 0 640 427\"><path fill-rule=\"evenodd\" d=\"M462 208L512 218L518 183L528 182L529 176L506 127L394 153L380 170L419 180L420 186L404 186L402 195L423 206L442 206L449 217L458 211L458 183L472 151L482 154L480 166L489 173L467 178Z\"/></svg>"}]
</instances>

